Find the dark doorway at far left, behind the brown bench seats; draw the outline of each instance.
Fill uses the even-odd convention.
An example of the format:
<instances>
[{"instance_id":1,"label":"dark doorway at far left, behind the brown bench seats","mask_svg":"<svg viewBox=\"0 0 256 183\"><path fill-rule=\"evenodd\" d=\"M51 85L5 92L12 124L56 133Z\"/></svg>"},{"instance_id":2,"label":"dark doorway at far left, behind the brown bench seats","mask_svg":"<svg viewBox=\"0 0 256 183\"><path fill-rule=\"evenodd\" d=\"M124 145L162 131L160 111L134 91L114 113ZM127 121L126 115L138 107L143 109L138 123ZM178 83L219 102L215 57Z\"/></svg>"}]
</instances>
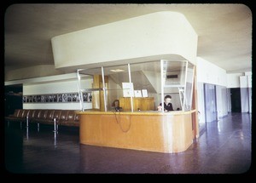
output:
<instances>
[{"instance_id":1,"label":"dark doorway at far left, behind the brown bench seats","mask_svg":"<svg viewBox=\"0 0 256 183\"><path fill-rule=\"evenodd\" d=\"M15 109L22 109L22 85L4 87L4 115L13 114Z\"/></svg>"}]
</instances>

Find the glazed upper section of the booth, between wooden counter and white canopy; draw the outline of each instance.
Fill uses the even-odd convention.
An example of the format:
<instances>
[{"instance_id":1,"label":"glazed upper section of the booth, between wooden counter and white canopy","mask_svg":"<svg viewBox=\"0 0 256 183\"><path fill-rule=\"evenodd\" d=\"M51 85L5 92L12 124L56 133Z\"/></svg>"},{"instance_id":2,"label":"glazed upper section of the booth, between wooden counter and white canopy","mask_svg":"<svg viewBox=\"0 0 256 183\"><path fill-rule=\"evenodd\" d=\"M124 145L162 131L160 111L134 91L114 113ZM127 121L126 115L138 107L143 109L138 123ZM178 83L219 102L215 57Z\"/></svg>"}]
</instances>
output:
<instances>
[{"instance_id":1,"label":"glazed upper section of the booth, between wooden counter and white canopy","mask_svg":"<svg viewBox=\"0 0 256 183\"><path fill-rule=\"evenodd\" d=\"M79 97L92 95L92 109L102 112L157 111L167 94L173 110L192 109L194 66L187 60L154 60L78 70L93 78L87 89L79 83ZM161 110L161 112L165 112Z\"/></svg>"}]
</instances>

